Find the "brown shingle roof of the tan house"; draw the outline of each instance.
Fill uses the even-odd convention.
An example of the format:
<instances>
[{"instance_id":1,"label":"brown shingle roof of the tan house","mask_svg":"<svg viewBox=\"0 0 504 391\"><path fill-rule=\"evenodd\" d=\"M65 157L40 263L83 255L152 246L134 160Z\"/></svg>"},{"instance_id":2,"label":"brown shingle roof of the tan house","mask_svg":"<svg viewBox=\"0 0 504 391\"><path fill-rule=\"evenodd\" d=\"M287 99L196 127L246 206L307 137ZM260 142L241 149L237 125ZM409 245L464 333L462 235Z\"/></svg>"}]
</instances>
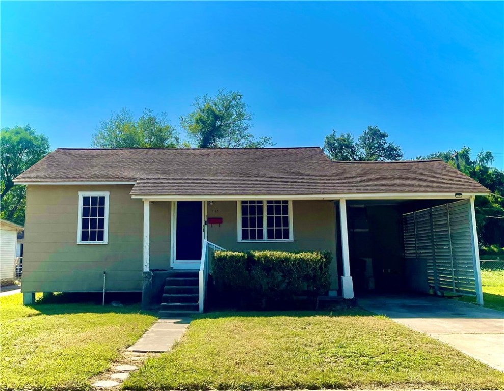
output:
<instances>
[{"instance_id":1,"label":"brown shingle roof of the tan house","mask_svg":"<svg viewBox=\"0 0 504 391\"><path fill-rule=\"evenodd\" d=\"M15 182L131 181L134 195L482 193L441 160L332 162L319 147L57 149Z\"/></svg>"}]
</instances>

